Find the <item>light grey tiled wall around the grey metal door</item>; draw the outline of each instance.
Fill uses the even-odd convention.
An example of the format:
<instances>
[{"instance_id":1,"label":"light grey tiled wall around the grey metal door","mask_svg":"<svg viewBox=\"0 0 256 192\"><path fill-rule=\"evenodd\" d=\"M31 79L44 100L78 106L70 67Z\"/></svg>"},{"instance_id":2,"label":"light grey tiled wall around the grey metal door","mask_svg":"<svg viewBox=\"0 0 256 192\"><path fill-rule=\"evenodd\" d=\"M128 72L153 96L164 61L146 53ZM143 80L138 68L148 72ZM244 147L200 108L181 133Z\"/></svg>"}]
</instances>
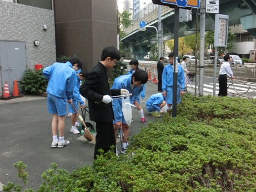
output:
<instances>
[{"instance_id":1,"label":"light grey tiled wall around the grey metal door","mask_svg":"<svg viewBox=\"0 0 256 192\"><path fill-rule=\"evenodd\" d=\"M26 43L27 68L34 69L34 64L46 67L56 62L53 10L0 0L0 18L1 41ZM47 30L43 29L44 24ZM40 42L38 47L33 44L36 40ZM0 87L3 86L0 81Z\"/></svg>"}]
</instances>

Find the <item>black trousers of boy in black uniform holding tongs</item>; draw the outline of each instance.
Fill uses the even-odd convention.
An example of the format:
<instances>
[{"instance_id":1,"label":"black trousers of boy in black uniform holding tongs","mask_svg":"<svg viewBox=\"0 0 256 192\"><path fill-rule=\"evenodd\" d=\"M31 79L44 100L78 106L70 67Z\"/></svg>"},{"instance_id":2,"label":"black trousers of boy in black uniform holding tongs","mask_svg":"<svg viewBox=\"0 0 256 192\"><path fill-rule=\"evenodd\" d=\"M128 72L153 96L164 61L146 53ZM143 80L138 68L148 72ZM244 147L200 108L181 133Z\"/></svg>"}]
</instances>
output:
<instances>
[{"instance_id":1,"label":"black trousers of boy in black uniform holding tongs","mask_svg":"<svg viewBox=\"0 0 256 192\"><path fill-rule=\"evenodd\" d=\"M94 159L99 155L99 149L103 149L104 153L107 153L112 145L116 146L113 122L96 122L96 132ZM116 147L114 147L113 152L116 153Z\"/></svg>"}]
</instances>

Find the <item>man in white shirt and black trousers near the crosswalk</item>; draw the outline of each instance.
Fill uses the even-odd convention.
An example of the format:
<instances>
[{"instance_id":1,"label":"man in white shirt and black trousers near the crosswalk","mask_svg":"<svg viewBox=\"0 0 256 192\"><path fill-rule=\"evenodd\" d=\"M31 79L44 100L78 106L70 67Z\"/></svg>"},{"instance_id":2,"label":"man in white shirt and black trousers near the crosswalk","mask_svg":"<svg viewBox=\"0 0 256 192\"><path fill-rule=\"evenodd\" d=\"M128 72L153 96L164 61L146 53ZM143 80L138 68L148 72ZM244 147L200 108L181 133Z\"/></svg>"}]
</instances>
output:
<instances>
[{"instance_id":1,"label":"man in white shirt and black trousers near the crosswalk","mask_svg":"<svg viewBox=\"0 0 256 192\"><path fill-rule=\"evenodd\" d=\"M224 55L223 59L225 62L222 64L219 70L219 94L218 96L227 96L228 95L228 79L227 75L234 79L233 72L230 68L230 55Z\"/></svg>"}]
</instances>

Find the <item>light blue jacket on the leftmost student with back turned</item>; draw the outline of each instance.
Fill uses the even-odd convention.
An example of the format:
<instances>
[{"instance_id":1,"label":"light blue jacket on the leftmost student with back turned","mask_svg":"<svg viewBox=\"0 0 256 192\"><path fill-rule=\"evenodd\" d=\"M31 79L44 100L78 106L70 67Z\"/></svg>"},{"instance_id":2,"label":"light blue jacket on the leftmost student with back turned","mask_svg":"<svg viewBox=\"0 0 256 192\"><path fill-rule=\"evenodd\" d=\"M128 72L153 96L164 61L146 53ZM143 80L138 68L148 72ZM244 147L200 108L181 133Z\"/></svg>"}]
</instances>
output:
<instances>
[{"instance_id":1,"label":"light blue jacket on the leftmost student with back turned","mask_svg":"<svg viewBox=\"0 0 256 192\"><path fill-rule=\"evenodd\" d=\"M47 93L59 98L72 99L77 74L70 62L53 63L43 69L43 75L49 80Z\"/></svg>"}]
</instances>

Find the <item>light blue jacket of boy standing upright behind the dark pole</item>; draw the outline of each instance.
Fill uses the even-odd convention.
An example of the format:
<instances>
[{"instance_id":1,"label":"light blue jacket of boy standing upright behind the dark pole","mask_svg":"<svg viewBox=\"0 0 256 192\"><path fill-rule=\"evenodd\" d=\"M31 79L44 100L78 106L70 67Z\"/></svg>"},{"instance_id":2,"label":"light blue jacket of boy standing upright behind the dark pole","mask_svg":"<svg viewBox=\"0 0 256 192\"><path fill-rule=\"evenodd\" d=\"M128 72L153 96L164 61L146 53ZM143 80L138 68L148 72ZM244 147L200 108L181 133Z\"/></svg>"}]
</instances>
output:
<instances>
[{"instance_id":1,"label":"light blue jacket of boy standing upright behind the dark pole","mask_svg":"<svg viewBox=\"0 0 256 192\"><path fill-rule=\"evenodd\" d=\"M184 78L184 70L182 65L178 65L178 78L177 78L177 87L180 90L184 90L185 88L185 78ZM165 65L162 75L162 89L163 92L166 91L167 87L173 87L173 67L172 65L168 64Z\"/></svg>"}]
</instances>

